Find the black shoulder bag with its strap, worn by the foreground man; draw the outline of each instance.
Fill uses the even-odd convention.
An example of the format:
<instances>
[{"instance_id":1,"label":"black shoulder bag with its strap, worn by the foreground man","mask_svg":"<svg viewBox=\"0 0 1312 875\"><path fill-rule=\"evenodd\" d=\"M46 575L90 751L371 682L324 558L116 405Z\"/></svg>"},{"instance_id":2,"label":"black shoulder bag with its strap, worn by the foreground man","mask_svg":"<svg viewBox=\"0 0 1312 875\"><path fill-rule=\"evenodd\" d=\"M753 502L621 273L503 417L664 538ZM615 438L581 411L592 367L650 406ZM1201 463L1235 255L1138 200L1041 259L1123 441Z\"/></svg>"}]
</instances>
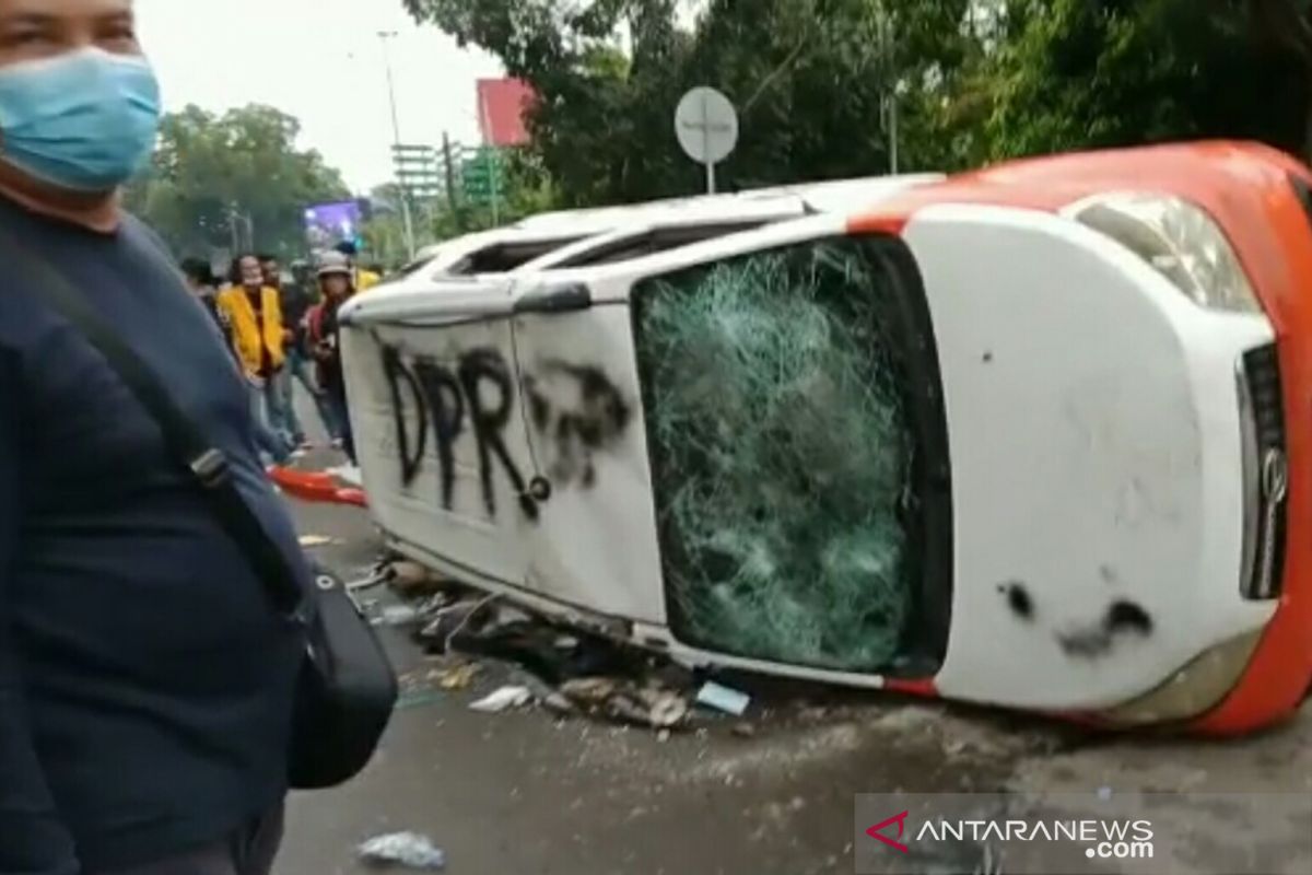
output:
<instances>
[{"instance_id":1,"label":"black shoulder bag with its strap, worn by the foreground man","mask_svg":"<svg viewBox=\"0 0 1312 875\"><path fill-rule=\"evenodd\" d=\"M205 439L150 366L52 265L20 251L7 235L0 235L0 254L7 265L29 270L47 303L104 356L159 425L178 463L190 471L274 607L303 623L307 648L287 752L290 786L319 790L353 778L369 763L387 728L398 683L373 627L345 585L321 571L315 575L315 586L299 584L232 483L223 451Z\"/></svg>"}]
</instances>

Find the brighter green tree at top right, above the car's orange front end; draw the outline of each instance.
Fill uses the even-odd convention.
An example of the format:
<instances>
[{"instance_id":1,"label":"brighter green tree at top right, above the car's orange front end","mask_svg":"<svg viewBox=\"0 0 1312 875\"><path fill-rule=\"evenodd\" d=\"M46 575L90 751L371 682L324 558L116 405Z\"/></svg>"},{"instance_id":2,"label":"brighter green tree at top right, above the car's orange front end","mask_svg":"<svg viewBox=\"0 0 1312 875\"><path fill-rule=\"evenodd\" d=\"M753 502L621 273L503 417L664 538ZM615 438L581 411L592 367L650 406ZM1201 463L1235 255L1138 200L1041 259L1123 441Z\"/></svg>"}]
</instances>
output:
<instances>
[{"instance_id":1,"label":"brighter green tree at top right, above the car's orange front end","mask_svg":"<svg viewBox=\"0 0 1312 875\"><path fill-rule=\"evenodd\" d=\"M1307 155L1312 67L1260 14L1273 5L1305 22L1284 0L1013 4L987 62L991 156L1212 136Z\"/></svg>"}]
</instances>

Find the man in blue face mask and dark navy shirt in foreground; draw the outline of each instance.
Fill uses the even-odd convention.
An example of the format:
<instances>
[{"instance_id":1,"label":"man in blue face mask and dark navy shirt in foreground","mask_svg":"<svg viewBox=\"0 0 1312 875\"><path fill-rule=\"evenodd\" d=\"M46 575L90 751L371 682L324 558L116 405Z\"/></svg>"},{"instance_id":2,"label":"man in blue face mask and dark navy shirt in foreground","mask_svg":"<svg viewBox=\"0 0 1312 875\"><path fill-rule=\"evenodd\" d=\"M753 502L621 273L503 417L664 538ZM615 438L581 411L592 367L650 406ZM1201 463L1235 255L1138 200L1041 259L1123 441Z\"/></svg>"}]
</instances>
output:
<instances>
[{"instance_id":1,"label":"man in blue face mask and dark navy shirt in foreground","mask_svg":"<svg viewBox=\"0 0 1312 875\"><path fill-rule=\"evenodd\" d=\"M157 117L131 0L0 0L0 872L261 875L279 842L303 635L31 269L121 329L308 585L241 378L119 213Z\"/></svg>"}]
</instances>

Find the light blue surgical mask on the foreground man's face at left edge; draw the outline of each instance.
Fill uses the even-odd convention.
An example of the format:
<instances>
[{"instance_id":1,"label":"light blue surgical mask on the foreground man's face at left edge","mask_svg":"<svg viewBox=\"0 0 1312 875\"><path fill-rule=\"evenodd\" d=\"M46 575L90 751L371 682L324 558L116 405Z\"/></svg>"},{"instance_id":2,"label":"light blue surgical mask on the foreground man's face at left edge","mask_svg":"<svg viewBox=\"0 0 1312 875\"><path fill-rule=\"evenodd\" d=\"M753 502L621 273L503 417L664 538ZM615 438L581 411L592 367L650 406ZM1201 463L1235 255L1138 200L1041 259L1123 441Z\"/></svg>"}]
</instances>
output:
<instances>
[{"instance_id":1,"label":"light blue surgical mask on the foreground man's face at left edge","mask_svg":"<svg viewBox=\"0 0 1312 875\"><path fill-rule=\"evenodd\" d=\"M0 67L0 160L73 192L110 192L150 156L160 89L144 58L83 49Z\"/></svg>"}]
</instances>

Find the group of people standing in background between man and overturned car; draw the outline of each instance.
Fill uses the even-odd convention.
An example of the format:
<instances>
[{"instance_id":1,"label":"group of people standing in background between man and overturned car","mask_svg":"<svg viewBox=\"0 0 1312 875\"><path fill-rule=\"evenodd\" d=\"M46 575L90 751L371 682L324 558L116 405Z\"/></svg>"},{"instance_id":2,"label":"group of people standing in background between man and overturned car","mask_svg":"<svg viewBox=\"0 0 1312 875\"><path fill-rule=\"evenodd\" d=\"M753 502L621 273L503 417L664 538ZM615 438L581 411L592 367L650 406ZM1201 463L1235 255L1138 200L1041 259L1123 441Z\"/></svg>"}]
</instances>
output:
<instances>
[{"instance_id":1,"label":"group of people standing in background between man and overturned car","mask_svg":"<svg viewBox=\"0 0 1312 875\"><path fill-rule=\"evenodd\" d=\"M312 268L294 265L287 275L276 256L245 253L223 278L203 258L182 261L192 293L251 386L256 445L270 463L283 464L312 447L297 412L299 383L332 445L354 464L337 310L380 281L358 266L356 256L354 245L344 243L321 253Z\"/></svg>"}]
</instances>

